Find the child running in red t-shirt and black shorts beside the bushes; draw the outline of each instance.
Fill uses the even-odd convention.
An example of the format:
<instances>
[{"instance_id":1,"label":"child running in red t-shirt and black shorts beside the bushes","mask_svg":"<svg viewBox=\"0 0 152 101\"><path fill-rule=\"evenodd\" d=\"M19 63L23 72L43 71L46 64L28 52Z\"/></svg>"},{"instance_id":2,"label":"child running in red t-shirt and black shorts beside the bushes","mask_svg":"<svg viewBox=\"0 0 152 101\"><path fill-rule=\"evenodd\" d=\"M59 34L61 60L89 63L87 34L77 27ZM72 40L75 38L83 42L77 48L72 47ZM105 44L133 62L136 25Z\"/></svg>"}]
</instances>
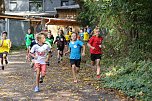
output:
<instances>
[{"instance_id":1,"label":"child running in red t-shirt and black shorts beside the bushes","mask_svg":"<svg viewBox=\"0 0 152 101\"><path fill-rule=\"evenodd\" d=\"M96 28L94 30L94 35L90 38L88 42L88 47L90 48L91 53L91 63L93 66L96 65L97 68L97 78L100 78L100 60L102 55L102 49L101 44L103 41L103 38L99 36L100 30L99 28Z\"/></svg>"}]
</instances>

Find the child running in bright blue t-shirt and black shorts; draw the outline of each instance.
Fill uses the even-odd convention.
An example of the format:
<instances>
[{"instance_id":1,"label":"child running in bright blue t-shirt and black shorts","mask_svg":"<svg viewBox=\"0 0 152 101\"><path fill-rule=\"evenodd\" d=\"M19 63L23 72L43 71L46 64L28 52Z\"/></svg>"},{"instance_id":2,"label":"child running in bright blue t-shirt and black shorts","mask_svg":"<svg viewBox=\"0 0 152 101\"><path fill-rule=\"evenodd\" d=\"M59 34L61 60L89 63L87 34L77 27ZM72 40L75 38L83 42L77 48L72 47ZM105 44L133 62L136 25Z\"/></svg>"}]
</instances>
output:
<instances>
[{"instance_id":1,"label":"child running in bright blue t-shirt and black shorts","mask_svg":"<svg viewBox=\"0 0 152 101\"><path fill-rule=\"evenodd\" d=\"M71 42L69 43L69 50L65 52L65 55L70 52L70 63L72 66L72 74L74 82L77 83L77 73L80 68L80 62L81 62L81 48L82 50L82 56L85 55L85 45L82 41L77 40L77 34L72 33L71 35Z\"/></svg>"}]
</instances>

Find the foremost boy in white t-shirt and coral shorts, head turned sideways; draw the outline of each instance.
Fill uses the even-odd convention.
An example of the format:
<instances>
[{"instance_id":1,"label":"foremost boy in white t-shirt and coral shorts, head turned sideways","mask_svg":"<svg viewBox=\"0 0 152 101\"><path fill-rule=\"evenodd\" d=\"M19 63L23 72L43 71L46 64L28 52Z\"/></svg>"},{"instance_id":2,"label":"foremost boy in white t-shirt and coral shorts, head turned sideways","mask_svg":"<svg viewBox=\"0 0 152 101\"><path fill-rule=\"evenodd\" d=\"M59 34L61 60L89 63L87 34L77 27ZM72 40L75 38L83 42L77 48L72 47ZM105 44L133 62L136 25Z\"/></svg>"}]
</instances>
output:
<instances>
[{"instance_id":1,"label":"foremost boy in white t-shirt and coral shorts, head turned sideways","mask_svg":"<svg viewBox=\"0 0 152 101\"><path fill-rule=\"evenodd\" d=\"M39 82L40 82L40 74L41 80L43 81L46 74L46 63L49 61L51 49L45 44L45 34L38 33L37 35L38 43L35 44L30 50L30 55L35 59L35 71L36 71L36 86L34 91L39 92Z\"/></svg>"}]
</instances>

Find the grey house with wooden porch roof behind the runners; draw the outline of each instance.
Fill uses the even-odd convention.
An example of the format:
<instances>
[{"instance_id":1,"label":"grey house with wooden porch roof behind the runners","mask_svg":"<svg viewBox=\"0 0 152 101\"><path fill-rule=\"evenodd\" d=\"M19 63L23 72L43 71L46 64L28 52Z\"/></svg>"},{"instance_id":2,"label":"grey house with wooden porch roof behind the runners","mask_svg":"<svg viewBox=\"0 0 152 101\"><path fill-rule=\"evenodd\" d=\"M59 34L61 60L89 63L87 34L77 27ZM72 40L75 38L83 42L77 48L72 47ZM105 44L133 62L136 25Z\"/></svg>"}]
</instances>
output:
<instances>
[{"instance_id":1,"label":"grey house with wooden porch roof behind the runners","mask_svg":"<svg viewBox=\"0 0 152 101\"><path fill-rule=\"evenodd\" d=\"M62 12L65 11L61 11L62 7L77 5L74 0L4 1L5 13L0 14L0 32L7 31L13 45L24 45L24 37L29 27L33 27L33 31L36 33L51 25L56 26L52 28L66 24L78 25L73 18L67 19L67 15L62 17Z\"/></svg>"}]
</instances>

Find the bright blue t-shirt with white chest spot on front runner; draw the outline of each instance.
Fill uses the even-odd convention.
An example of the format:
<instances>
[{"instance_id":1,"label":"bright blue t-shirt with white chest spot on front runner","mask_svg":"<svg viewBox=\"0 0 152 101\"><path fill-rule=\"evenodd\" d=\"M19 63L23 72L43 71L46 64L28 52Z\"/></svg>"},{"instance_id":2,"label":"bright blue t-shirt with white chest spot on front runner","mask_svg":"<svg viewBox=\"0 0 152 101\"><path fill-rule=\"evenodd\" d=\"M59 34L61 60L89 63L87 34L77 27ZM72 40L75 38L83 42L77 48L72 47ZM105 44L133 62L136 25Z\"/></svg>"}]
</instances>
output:
<instances>
[{"instance_id":1,"label":"bright blue t-shirt with white chest spot on front runner","mask_svg":"<svg viewBox=\"0 0 152 101\"><path fill-rule=\"evenodd\" d=\"M77 40L75 42L69 43L70 48L70 59L80 59L81 58L81 47L83 46L83 42Z\"/></svg>"}]
</instances>

